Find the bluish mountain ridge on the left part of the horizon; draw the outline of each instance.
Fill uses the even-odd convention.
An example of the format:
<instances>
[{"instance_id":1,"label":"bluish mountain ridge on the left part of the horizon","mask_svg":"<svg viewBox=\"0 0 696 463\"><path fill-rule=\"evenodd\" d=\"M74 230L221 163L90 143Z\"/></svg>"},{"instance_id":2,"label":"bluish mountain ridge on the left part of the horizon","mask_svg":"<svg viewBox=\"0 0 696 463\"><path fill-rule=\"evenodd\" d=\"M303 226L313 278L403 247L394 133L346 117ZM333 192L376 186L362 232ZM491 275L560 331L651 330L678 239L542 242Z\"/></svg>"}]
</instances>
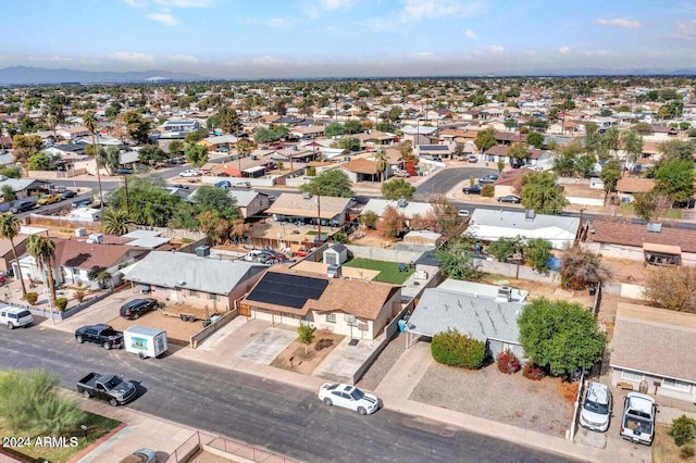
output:
<instances>
[{"instance_id":1,"label":"bluish mountain ridge on the left part of the horizon","mask_svg":"<svg viewBox=\"0 0 696 463\"><path fill-rule=\"evenodd\" d=\"M0 85L48 85L48 84L126 84L153 80L209 80L189 73L174 73L170 71L145 72L109 72L109 71L75 71L48 70L45 67L14 66L0 70Z\"/></svg>"}]
</instances>

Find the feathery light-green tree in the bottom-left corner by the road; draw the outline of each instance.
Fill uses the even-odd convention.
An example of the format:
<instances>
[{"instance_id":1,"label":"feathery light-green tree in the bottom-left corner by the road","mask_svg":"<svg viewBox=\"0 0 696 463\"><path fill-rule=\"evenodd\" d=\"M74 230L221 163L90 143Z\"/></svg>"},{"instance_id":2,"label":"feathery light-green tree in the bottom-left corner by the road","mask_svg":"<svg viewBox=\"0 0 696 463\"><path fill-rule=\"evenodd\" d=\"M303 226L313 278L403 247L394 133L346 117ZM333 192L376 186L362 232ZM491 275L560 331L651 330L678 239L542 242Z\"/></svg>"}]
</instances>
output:
<instances>
[{"instance_id":1,"label":"feathery light-green tree in the bottom-left corner by the road","mask_svg":"<svg viewBox=\"0 0 696 463\"><path fill-rule=\"evenodd\" d=\"M59 393L60 378L45 368L0 373L0 416L14 434L75 435L85 423L77 401Z\"/></svg>"}]
</instances>

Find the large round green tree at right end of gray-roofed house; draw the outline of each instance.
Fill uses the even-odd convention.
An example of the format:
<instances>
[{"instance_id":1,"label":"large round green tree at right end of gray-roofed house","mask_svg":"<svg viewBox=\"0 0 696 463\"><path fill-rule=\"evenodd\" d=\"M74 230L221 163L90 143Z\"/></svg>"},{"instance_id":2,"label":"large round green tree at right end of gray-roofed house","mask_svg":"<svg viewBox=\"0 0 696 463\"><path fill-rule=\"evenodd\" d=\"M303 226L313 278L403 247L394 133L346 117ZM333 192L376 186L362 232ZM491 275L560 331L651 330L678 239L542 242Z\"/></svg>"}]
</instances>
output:
<instances>
[{"instance_id":1,"label":"large round green tree at right end of gray-roofed house","mask_svg":"<svg viewBox=\"0 0 696 463\"><path fill-rule=\"evenodd\" d=\"M556 376L592 368L607 346L595 316L579 303L534 299L518 325L524 354Z\"/></svg>"}]
</instances>

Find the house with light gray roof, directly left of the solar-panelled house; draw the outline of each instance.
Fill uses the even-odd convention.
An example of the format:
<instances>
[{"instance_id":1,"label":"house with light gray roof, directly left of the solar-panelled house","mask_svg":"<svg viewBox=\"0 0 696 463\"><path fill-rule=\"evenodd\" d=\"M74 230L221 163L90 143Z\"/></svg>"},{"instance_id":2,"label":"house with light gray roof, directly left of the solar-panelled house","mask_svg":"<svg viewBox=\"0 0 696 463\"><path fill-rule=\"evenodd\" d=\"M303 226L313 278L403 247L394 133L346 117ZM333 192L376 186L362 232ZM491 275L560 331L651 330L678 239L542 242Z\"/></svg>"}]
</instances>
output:
<instances>
[{"instance_id":1,"label":"house with light gray roof, directly left of the solar-panelled house","mask_svg":"<svg viewBox=\"0 0 696 463\"><path fill-rule=\"evenodd\" d=\"M268 266L211 259L187 252L152 251L124 276L147 292L164 295L171 302L210 304L213 311L229 311L261 278Z\"/></svg>"}]
</instances>

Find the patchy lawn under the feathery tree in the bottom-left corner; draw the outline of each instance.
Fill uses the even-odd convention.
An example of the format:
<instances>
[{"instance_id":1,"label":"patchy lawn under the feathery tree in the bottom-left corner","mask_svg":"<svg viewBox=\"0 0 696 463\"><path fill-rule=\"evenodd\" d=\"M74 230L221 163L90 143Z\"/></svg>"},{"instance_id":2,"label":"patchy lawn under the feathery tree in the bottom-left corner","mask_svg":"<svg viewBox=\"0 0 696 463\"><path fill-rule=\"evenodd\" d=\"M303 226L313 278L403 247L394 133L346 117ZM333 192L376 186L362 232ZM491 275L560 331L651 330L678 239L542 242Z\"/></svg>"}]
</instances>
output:
<instances>
[{"instance_id":1,"label":"patchy lawn under the feathery tree in the bottom-left corner","mask_svg":"<svg viewBox=\"0 0 696 463\"><path fill-rule=\"evenodd\" d=\"M42 442L42 438L51 438L54 436L30 436L28 447L23 446L22 448L4 448L4 450L18 453L17 456L28 456L30 459L34 459L34 461L36 462L48 461L50 463L64 463L121 424L120 422L108 418L105 416L95 415L88 412L85 413L87 414L87 418L85 420L85 425L87 425L87 440L85 440L85 434L83 433L83 430L77 429L70 435L64 436L65 439L63 441L58 441L58 443L55 441L51 443L49 439L48 441L46 441L45 447L41 447L40 443ZM26 439L27 437L26 433L13 433L9 429L4 429L1 424L0 436L22 436L23 439ZM58 436L55 437L58 438ZM39 439L38 446L37 439ZM75 445L75 447L73 447L73 443ZM27 459L27 461L30 460Z\"/></svg>"}]
</instances>

